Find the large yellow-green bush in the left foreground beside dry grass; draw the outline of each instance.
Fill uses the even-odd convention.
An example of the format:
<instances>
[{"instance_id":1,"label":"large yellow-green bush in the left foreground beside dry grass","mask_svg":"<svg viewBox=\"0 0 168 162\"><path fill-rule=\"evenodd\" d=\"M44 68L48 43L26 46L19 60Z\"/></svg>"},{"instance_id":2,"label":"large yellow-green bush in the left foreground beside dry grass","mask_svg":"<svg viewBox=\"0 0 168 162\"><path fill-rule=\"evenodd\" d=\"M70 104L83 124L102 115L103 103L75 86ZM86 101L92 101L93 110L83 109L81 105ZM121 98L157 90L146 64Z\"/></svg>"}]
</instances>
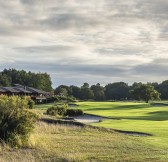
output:
<instances>
[{"instance_id":1,"label":"large yellow-green bush in the left foreground beside dry grass","mask_svg":"<svg viewBox=\"0 0 168 162\"><path fill-rule=\"evenodd\" d=\"M29 110L28 100L0 96L0 138L13 147L25 146L38 116Z\"/></svg>"}]
</instances>

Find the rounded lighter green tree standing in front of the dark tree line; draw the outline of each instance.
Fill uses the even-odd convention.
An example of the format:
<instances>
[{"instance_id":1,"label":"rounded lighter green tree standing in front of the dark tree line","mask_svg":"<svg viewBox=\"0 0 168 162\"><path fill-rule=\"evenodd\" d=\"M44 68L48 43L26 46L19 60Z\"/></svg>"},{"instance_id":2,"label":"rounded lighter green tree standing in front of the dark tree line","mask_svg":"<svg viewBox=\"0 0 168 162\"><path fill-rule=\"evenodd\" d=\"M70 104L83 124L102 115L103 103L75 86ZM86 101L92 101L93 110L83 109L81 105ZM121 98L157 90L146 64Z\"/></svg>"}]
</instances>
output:
<instances>
[{"instance_id":1,"label":"rounded lighter green tree standing in front of the dark tree line","mask_svg":"<svg viewBox=\"0 0 168 162\"><path fill-rule=\"evenodd\" d=\"M160 93L150 84L139 84L135 86L131 94L135 99L144 100L146 103L148 103L149 100L160 99Z\"/></svg>"}]
</instances>

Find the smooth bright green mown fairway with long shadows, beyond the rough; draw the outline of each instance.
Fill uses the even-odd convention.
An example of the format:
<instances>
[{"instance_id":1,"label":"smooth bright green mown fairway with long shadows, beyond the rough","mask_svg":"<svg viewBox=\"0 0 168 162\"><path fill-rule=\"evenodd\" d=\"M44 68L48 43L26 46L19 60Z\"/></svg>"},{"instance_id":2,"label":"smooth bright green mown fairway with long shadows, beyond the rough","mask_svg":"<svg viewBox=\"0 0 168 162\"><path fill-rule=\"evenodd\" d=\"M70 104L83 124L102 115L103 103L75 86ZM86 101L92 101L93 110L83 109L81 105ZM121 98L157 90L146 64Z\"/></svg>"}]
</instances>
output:
<instances>
[{"instance_id":1,"label":"smooth bright green mown fairway with long shadows, beyond the rough","mask_svg":"<svg viewBox=\"0 0 168 162\"><path fill-rule=\"evenodd\" d=\"M168 106L133 102L80 102L78 105L85 113L110 118L93 125L150 133L153 136L142 138L143 142L167 151Z\"/></svg>"}]
</instances>

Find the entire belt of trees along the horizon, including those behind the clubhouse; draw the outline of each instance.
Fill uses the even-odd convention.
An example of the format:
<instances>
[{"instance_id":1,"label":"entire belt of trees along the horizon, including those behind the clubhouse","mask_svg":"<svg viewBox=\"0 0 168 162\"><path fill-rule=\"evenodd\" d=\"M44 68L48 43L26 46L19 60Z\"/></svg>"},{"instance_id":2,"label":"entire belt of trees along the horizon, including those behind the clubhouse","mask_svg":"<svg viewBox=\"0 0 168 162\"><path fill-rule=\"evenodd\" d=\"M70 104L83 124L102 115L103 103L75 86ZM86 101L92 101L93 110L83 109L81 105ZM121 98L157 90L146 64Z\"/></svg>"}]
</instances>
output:
<instances>
[{"instance_id":1,"label":"entire belt of trees along the horizon, including those behind the clubhouse","mask_svg":"<svg viewBox=\"0 0 168 162\"><path fill-rule=\"evenodd\" d=\"M91 86L84 83L80 87L60 85L53 89L51 77L47 73L26 72L16 69L4 69L0 72L0 87L13 86L13 84L30 86L48 92L54 90L56 95L73 96L80 100L144 100L148 102L151 99L168 99L168 80L162 83L146 84L135 82L132 85L125 82L115 82L105 86L101 86L99 83Z\"/></svg>"}]
</instances>

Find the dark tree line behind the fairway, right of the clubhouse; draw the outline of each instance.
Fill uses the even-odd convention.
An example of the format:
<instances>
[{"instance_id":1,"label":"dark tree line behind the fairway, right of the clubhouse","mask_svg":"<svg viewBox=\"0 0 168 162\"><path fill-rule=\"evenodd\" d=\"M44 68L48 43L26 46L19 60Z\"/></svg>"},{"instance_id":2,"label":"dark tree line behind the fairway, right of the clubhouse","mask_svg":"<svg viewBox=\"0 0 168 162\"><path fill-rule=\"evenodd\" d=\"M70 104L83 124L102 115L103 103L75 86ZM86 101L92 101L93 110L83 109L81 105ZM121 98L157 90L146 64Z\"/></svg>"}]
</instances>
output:
<instances>
[{"instance_id":1,"label":"dark tree line behind the fairway, right of the clubhouse","mask_svg":"<svg viewBox=\"0 0 168 162\"><path fill-rule=\"evenodd\" d=\"M168 99L168 80L160 84L135 82L128 85L124 82L115 82L105 86L99 83L91 86L84 83L81 87L60 85L54 92L56 95L74 96L80 100L144 100L148 102L149 100Z\"/></svg>"}]
</instances>

